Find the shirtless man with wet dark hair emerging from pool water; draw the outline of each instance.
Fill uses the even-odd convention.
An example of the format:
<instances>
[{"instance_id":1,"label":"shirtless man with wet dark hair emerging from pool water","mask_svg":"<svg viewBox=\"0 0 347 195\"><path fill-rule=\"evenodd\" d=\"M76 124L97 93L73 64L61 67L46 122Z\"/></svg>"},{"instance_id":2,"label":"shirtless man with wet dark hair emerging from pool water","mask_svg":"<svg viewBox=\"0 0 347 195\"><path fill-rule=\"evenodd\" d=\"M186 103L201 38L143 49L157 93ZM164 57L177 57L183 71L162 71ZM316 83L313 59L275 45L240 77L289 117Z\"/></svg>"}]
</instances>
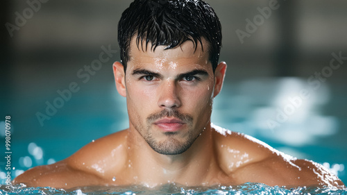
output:
<instances>
[{"instance_id":1,"label":"shirtless man with wet dark hair emerging from pool water","mask_svg":"<svg viewBox=\"0 0 347 195\"><path fill-rule=\"evenodd\" d=\"M129 128L30 169L15 184L344 187L320 164L211 124L226 63L218 63L221 25L207 3L135 0L121 16L118 40L121 62L113 71Z\"/></svg>"}]
</instances>

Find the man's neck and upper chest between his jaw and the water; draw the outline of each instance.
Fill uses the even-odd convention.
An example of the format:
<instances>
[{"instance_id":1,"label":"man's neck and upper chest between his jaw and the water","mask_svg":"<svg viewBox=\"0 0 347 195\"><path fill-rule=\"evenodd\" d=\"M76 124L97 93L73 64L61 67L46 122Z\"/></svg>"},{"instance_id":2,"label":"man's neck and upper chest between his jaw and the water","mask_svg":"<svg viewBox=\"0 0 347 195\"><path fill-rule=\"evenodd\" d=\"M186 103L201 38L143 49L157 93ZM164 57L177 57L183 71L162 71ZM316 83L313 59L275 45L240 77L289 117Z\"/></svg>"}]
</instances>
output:
<instances>
[{"instance_id":1,"label":"man's neck and upper chest between his jaw and the water","mask_svg":"<svg viewBox=\"0 0 347 195\"><path fill-rule=\"evenodd\" d=\"M210 124L187 151L178 155L153 151L134 128L129 128L128 134L128 162L139 183L149 186L165 183L201 185L217 164Z\"/></svg>"}]
</instances>

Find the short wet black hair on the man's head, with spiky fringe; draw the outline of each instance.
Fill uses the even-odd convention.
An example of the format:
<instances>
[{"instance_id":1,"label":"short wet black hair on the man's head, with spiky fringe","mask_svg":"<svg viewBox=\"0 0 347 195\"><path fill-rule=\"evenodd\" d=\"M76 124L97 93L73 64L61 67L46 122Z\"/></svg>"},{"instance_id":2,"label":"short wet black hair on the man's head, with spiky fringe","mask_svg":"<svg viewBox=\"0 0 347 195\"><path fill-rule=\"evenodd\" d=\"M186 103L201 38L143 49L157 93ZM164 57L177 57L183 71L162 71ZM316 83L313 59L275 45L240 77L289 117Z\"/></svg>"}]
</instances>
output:
<instances>
[{"instance_id":1,"label":"short wet black hair on the man's head, with spiky fringe","mask_svg":"<svg viewBox=\"0 0 347 195\"><path fill-rule=\"evenodd\" d=\"M135 0L121 15L118 43L126 70L130 41L136 36L137 48L146 41L151 50L159 45L176 48L191 40L196 49L201 37L208 42L210 62L216 69L221 51L221 23L212 7L200 0ZM143 47L142 47L143 49ZM203 48L204 49L204 48Z\"/></svg>"}]
</instances>

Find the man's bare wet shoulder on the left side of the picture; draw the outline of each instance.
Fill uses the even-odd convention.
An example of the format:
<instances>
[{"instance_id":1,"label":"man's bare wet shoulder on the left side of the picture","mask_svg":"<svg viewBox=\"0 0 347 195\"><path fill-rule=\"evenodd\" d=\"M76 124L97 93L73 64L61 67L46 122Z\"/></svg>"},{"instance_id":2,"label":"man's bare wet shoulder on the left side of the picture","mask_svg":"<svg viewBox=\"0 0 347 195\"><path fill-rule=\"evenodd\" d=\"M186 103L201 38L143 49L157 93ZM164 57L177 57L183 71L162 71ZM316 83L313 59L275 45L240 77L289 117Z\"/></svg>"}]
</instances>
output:
<instances>
[{"instance_id":1,"label":"man's bare wet shoulder on the left side of the picture","mask_svg":"<svg viewBox=\"0 0 347 195\"><path fill-rule=\"evenodd\" d=\"M125 131L120 131L96 139L65 160L25 171L17 176L13 183L62 188L104 185L110 169L112 173L117 173L125 159L124 135Z\"/></svg>"}]
</instances>

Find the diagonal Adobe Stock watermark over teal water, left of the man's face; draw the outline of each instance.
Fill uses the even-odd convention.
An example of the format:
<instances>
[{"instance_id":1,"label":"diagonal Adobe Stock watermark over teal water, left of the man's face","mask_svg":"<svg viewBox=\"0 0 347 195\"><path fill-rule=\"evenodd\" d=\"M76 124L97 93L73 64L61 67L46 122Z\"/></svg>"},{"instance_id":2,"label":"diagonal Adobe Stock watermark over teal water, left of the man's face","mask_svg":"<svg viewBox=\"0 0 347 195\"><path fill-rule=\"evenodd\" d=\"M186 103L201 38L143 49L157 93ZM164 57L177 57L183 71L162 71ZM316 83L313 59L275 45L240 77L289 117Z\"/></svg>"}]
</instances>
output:
<instances>
[{"instance_id":1,"label":"diagonal Adobe Stock watermark over teal water, left of the man's face","mask_svg":"<svg viewBox=\"0 0 347 195\"><path fill-rule=\"evenodd\" d=\"M101 53L99 53L99 58L93 60L90 65L84 65L83 68L78 69L76 72L77 78L80 78L82 83L87 83L90 81L90 78L96 74L103 67L103 63L110 61L110 59L117 53L117 50L112 50L111 45L108 45L108 48L101 46ZM70 101L72 95L81 90L81 87L77 82L69 83L69 86L65 90L57 90L58 96L53 99L53 101L46 101L45 112L36 112L37 120L40 122L41 126L44 126L44 121L51 119L58 109L62 108L65 105L65 102Z\"/></svg>"}]
</instances>

